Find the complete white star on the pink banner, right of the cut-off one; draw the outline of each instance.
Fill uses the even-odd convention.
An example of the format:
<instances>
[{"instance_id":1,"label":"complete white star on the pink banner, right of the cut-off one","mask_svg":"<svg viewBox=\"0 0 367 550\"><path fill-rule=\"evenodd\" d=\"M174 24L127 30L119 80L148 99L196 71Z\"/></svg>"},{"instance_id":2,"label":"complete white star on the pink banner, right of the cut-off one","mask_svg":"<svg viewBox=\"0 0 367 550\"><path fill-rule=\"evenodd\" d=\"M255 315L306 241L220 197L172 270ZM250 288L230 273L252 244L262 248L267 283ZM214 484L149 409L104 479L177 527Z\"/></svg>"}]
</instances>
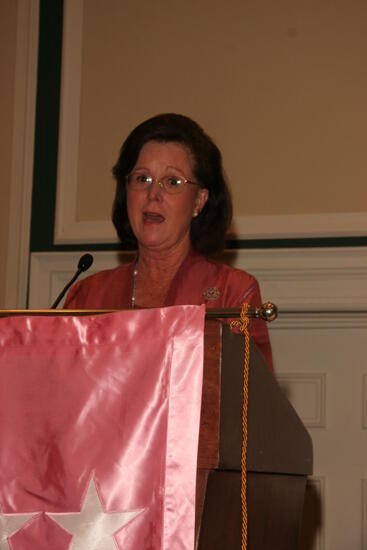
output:
<instances>
[{"instance_id":1,"label":"complete white star on the pink banner, right of the cut-off one","mask_svg":"<svg viewBox=\"0 0 367 550\"><path fill-rule=\"evenodd\" d=\"M104 512L93 478L80 512L47 515L73 535L69 550L116 550L113 535L140 512Z\"/></svg>"}]
</instances>

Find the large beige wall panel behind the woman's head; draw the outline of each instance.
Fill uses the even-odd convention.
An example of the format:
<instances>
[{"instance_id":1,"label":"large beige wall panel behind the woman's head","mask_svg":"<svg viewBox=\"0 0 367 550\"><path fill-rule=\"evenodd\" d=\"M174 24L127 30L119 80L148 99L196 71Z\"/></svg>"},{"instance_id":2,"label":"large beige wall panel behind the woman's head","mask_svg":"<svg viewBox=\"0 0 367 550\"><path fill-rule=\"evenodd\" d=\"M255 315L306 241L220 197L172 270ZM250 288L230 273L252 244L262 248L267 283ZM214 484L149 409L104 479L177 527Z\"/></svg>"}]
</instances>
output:
<instances>
[{"instance_id":1,"label":"large beige wall panel behind the woman's head","mask_svg":"<svg viewBox=\"0 0 367 550\"><path fill-rule=\"evenodd\" d=\"M126 134L164 111L215 138L235 215L366 210L367 3L84 2L77 218L109 217Z\"/></svg>"}]
</instances>

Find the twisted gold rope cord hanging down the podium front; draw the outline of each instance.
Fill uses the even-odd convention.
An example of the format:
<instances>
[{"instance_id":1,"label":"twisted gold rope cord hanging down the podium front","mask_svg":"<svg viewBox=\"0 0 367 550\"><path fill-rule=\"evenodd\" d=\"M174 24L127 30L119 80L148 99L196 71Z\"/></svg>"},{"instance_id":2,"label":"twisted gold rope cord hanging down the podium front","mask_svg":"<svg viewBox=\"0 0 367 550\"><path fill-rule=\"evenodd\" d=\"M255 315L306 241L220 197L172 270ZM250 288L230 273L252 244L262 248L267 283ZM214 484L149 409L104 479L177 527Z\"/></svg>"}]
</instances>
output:
<instances>
[{"instance_id":1,"label":"twisted gold rope cord hanging down the podium front","mask_svg":"<svg viewBox=\"0 0 367 550\"><path fill-rule=\"evenodd\" d=\"M245 337L245 357L243 365L243 409L242 409L242 453L241 453L241 504L242 504L242 550L247 548L247 409L248 409L248 375L250 365L250 334L248 326L250 318L247 316L249 305L243 304L239 321L230 323L231 329L237 328Z\"/></svg>"}]
</instances>

